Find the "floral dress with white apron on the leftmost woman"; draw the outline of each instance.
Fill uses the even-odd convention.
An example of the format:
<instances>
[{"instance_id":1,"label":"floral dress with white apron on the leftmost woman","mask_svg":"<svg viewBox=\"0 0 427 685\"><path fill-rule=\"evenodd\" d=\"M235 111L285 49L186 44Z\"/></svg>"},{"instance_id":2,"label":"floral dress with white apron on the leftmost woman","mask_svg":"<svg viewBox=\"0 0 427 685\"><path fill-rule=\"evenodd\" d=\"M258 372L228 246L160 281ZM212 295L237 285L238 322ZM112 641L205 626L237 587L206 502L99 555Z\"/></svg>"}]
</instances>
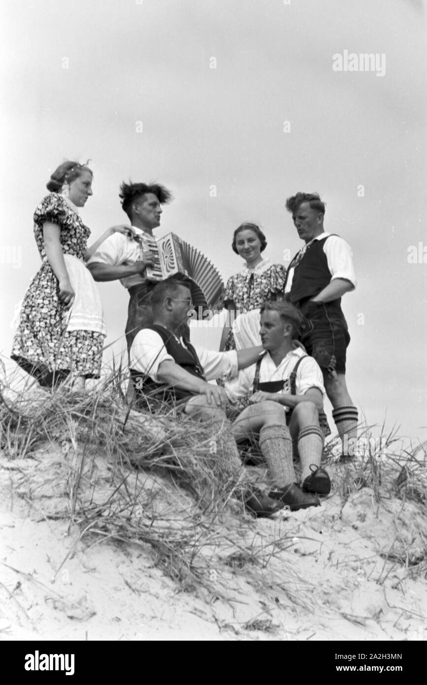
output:
<instances>
[{"instance_id":1,"label":"floral dress with white apron on the leftmost woman","mask_svg":"<svg viewBox=\"0 0 427 685\"><path fill-rule=\"evenodd\" d=\"M60 227L64 262L75 292L70 310L58 299L58 281L44 250L45 221ZM106 329L101 297L84 262L89 236L90 229L68 198L52 192L37 206L34 237L42 265L25 293L11 357L42 386L52 386L70 372L88 378L100 375Z\"/></svg>"}]
</instances>

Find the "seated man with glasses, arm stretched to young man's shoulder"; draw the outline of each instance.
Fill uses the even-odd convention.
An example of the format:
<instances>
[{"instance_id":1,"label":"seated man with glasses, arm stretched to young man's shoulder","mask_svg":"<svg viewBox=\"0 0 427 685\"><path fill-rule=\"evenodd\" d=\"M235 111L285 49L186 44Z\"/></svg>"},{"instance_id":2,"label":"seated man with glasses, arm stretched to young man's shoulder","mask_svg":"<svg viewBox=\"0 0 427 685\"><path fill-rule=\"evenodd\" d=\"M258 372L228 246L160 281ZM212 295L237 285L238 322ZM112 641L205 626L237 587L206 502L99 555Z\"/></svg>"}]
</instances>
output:
<instances>
[{"instance_id":1,"label":"seated man with glasses, arm stretched to young man's shoulder","mask_svg":"<svg viewBox=\"0 0 427 685\"><path fill-rule=\"evenodd\" d=\"M130 352L131 377L140 408L155 410L156 399L181 408L196 421L209 425L219 434L220 449L229 460L235 482L244 484L246 508L257 516L270 516L283 503L259 492L250 484L248 469L243 469L225 409L229 404L221 386L209 384L218 377L233 377L253 364L261 347L228 352L214 352L193 347L187 322L192 310L191 291L185 282L168 278L157 284L151 296L153 325L138 334Z\"/></svg>"}]
</instances>

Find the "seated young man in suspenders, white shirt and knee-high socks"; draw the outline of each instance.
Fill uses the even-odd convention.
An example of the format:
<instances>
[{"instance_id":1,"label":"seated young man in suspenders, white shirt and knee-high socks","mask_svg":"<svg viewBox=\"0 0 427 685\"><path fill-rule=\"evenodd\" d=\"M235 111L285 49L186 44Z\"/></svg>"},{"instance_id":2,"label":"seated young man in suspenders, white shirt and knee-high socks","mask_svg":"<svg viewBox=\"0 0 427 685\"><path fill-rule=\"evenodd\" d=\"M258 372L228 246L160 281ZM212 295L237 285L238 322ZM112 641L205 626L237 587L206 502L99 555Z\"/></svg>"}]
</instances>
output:
<instances>
[{"instance_id":1,"label":"seated young man in suspenders, white shirt and knee-high socks","mask_svg":"<svg viewBox=\"0 0 427 685\"><path fill-rule=\"evenodd\" d=\"M292 345L301 321L300 312L289 303L264 303L260 330L264 353L257 364L240 371L224 386L232 401L250 395L251 406L237 416L231 432L237 443L259 436L261 452L276 482L269 496L291 510L317 506L320 501L315 495L331 491L328 473L320 467L322 371L312 357ZM292 440L298 444L301 486L295 484Z\"/></svg>"}]
</instances>

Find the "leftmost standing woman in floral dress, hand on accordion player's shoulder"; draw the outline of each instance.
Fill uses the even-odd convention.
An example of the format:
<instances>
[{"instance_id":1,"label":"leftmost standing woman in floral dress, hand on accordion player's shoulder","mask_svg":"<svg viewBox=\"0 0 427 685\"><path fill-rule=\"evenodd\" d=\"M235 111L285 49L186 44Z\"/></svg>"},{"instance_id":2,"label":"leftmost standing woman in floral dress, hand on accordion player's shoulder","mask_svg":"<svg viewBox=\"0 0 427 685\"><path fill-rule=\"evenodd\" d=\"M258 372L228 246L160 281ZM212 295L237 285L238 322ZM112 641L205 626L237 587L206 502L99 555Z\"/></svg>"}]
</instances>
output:
<instances>
[{"instance_id":1,"label":"leftmost standing woman in floral dress, hand on accordion player's shoulder","mask_svg":"<svg viewBox=\"0 0 427 685\"><path fill-rule=\"evenodd\" d=\"M23 299L12 359L41 386L70 377L75 390L86 378L99 378L106 335L101 297L85 262L115 231L107 229L87 249L90 229L79 208L92 195L92 171L67 161L47 184L50 194L34 212L34 236L42 265Z\"/></svg>"}]
</instances>

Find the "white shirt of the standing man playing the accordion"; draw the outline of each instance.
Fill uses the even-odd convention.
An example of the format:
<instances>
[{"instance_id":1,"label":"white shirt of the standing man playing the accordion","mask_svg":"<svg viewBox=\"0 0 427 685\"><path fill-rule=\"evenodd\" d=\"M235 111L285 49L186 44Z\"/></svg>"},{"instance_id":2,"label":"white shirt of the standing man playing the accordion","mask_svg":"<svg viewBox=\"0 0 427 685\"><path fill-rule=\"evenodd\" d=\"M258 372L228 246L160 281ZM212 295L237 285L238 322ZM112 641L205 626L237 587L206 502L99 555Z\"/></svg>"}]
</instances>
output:
<instances>
[{"instance_id":1,"label":"white shirt of the standing man playing the accordion","mask_svg":"<svg viewBox=\"0 0 427 685\"><path fill-rule=\"evenodd\" d=\"M144 236L152 244L156 244L154 236L150 236L150 234L142 231L136 226L132 226L132 228L138 236ZM95 264L98 262L101 264L109 264L109 266L133 266L138 259L141 259L139 243L136 240L133 240L133 238L128 238L124 234L117 232L101 243L86 264ZM145 279L139 273L135 273L133 276L120 278L120 283L125 288L139 286L144 282Z\"/></svg>"}]
</instances>

